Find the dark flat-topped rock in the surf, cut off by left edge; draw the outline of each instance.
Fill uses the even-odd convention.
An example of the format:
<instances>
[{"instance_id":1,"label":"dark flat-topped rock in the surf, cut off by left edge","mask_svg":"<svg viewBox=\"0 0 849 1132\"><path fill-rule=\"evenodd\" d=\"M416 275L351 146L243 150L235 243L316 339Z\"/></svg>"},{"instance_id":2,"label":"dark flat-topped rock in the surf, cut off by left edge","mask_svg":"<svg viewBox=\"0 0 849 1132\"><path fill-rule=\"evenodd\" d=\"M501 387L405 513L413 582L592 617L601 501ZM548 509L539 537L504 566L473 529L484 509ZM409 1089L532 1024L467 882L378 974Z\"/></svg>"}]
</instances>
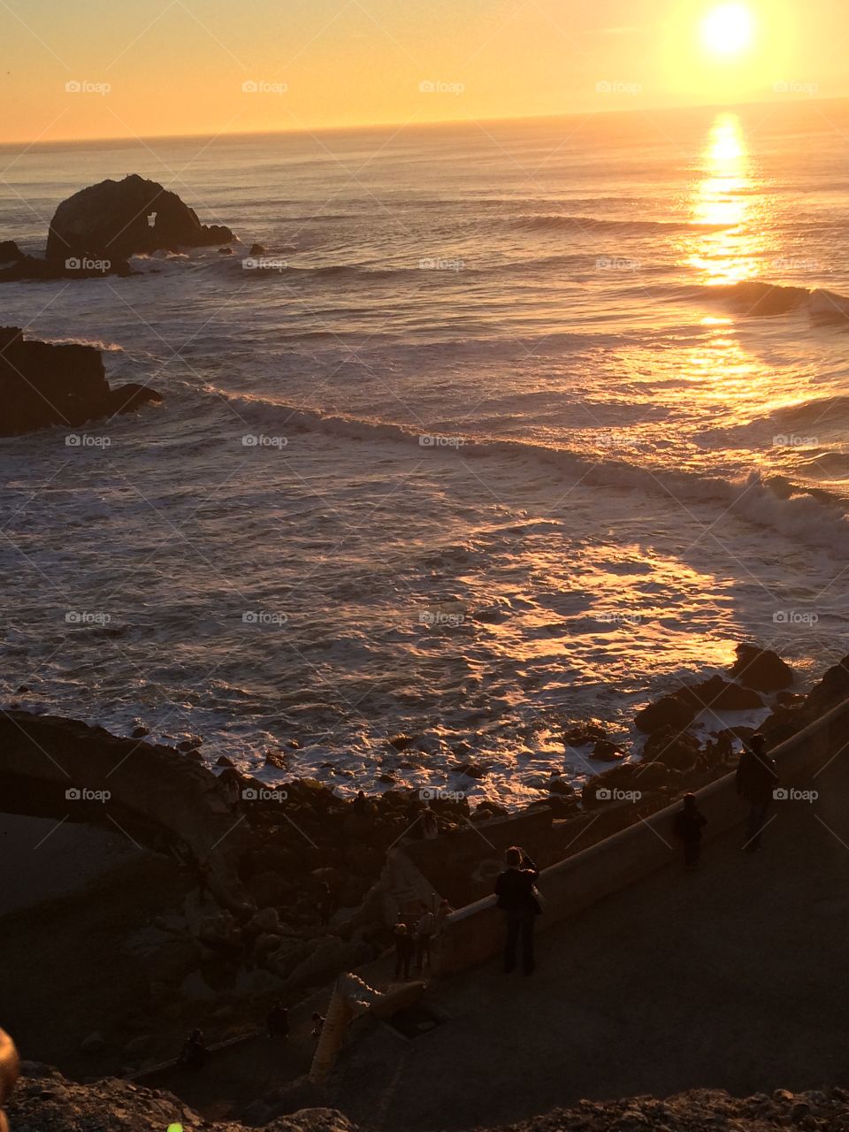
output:
<instances>
[{"instance_id":1,"label":"dark flat-topped rock in the surf, cut off by left edge","mask_svg":"<svg viewBox=\"0 0 849 1132\"><path fill-rule=\"evenodd\" d=\"M94 346L27 342L23 331L7 326L0 327L0 436L20 436L55 424L78 428L162 396L144 385L111 389Z\"/></svg>"}]
</instances>

